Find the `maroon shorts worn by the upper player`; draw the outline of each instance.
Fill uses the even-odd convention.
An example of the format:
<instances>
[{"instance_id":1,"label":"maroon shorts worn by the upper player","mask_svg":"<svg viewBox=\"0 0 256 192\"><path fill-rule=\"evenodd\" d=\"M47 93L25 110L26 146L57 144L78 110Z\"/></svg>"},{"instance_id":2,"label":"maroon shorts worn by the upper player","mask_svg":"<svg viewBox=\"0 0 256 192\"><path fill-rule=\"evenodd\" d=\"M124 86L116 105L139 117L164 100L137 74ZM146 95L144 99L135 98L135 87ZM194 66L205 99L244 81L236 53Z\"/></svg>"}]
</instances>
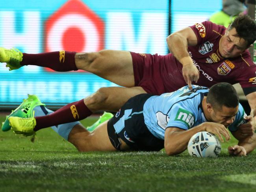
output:
<instances>
[{"instance_id":1,"label":"maroon shorts worn by the upper player","mask_svg":"<svg viewBox=\"0 0 256 192\"><path fill-rule=\"evenodd\" d=\"M137 54L130 52L134 68L135 86L142 87L147 93L160 95L166 92L161 78L161 65L158 54Z\"/></svg>"}]
</instances>

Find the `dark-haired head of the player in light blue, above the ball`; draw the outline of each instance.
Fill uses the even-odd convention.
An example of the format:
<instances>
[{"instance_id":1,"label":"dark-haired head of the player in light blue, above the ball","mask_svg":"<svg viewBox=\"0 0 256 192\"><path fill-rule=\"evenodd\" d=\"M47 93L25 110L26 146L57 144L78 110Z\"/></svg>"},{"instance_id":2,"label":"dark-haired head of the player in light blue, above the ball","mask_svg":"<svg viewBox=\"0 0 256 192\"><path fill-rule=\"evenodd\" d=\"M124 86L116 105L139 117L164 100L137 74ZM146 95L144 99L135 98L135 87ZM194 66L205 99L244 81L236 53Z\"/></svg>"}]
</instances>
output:
<instances>
[{"instance_id":1,"label":"dark-haired head of the player in light blue, above the ball","mask_svg":"<svg viewBox=\"0 0 256 192\"><path fill-rule=\"evenodd\" d=\"M239 97L229 83L213 85L206 98L208 120L229 126L238 112Z\"/></svg>"}]
</instances>

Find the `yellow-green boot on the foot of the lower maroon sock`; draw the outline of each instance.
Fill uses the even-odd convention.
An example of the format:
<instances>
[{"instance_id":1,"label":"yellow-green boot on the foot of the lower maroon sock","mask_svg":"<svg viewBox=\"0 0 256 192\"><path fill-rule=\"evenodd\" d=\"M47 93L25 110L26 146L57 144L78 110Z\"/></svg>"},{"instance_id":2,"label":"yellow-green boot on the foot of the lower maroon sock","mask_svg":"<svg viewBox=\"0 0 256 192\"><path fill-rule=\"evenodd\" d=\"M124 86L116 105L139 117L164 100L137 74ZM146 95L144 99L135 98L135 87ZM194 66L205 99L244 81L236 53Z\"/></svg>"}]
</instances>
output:
<instances>
[{"instance_id":1,"label":"yellow-green boot on the foot of the lower maroon sock","mask_svg":"<svg viewBox=\"0 0 256 192\"><path fill-rule=\"evenodd\" d=\"M33 112L33 116L30 118L9 117L10 126L14 133L25 136L35 135L34 128L36 126L36 121L34 114L35 111Z\"/></svg>"}]
</instances>

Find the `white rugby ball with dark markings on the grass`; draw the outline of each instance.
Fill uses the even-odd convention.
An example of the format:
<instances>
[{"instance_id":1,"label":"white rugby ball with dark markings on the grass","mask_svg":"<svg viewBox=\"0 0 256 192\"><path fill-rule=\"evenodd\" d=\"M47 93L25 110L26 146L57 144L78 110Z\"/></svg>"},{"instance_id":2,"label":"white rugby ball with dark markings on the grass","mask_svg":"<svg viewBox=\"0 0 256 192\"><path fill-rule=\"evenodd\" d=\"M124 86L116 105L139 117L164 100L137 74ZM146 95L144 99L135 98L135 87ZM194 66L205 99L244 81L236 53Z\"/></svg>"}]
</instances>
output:
<instances>
[{"instance_id":1,"label":"white rugby ball with dark markings on the grass","mask_svg":"<svg viewBox=\"0 0 256 192\"><path fill-rule=\"evenodd\" d=\"M213 133L201 131L190 138L187 151L194 157L218 157L221 142Z\"/></svg>"}]
</instances>

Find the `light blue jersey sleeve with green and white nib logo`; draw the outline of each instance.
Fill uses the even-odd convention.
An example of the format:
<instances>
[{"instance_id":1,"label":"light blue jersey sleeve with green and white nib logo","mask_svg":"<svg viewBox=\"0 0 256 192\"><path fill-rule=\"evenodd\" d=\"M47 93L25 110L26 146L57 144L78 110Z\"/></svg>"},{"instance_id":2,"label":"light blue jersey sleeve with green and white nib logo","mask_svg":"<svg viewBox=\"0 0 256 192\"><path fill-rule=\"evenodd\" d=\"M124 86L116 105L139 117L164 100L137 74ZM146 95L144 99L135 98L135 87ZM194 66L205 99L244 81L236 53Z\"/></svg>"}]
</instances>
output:
<instances>
[{"instance_id":1,"label":"light blue jersey sleeve with green and white nib logo","mask_svg":"<svg viewBox=\"0 0 256 192\"><path fill-rule=\"evenodd\" d=\"M178 127L187 130L194 126L196 114L184 103L176 103L170 110L167 127Z\"/></svg>"}]
</instances>

